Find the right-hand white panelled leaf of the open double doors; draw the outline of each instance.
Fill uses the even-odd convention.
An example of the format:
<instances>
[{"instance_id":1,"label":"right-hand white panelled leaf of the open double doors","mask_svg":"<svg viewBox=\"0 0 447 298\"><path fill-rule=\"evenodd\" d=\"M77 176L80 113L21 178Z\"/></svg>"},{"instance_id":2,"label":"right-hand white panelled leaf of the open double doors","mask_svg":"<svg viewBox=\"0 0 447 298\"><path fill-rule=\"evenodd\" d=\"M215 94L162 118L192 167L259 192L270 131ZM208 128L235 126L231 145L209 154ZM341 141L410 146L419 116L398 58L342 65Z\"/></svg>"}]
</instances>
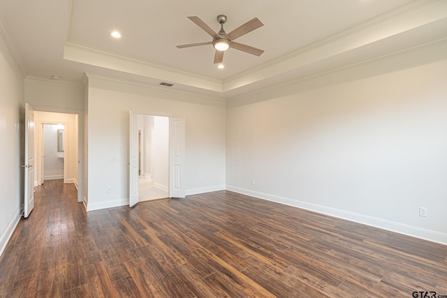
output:
<instances>
[{"instance_id":1,"label":"right-hand white panelled leaf of the open double doors","mask_svg":"<svg viewBox=\"0 0 447 298\"><path fill-rule=\"evenodd\" d=\"M184 117L169 117L169 197L184 198Z\"/></svg>"}]
</instances>

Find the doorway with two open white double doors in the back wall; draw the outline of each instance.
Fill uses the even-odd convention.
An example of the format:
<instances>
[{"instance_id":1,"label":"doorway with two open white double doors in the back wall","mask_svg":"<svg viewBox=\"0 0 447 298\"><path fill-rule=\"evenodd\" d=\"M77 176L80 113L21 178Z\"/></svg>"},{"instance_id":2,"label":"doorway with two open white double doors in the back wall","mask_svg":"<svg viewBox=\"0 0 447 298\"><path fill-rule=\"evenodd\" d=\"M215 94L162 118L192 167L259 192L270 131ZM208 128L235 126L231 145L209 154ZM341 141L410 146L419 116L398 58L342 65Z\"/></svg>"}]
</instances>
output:
<instances>
[{"instance_id":1,"label":"doorway with two open white double doors in the back wall","mask_svg":"<svg viewBox=\"0 0 447 298\"><path fill-rule=\"evenodd\" d=\"M145 118L145 116L152 116L152 118ZM151 119L154 123L152 126ZM149 125L145 126L144 122L149 122ZM140 201L140 179L143 173L144 179L152 179L152 181L145 181L149 182L149 185L152 182L151 187L155 186L163 191L166 189L168 195L163 193L163 198L185 198L184 122L184 116L133 110L129 112L129 207L133 207ZM160 128L158 132L157 127ZM147 132L151 133L147 135ZM157 136L163 139L163 142L157 141ZM149 140L151 144L146 144ZM142 151L144 154L141 154ZM143 157L140 158L140 156ZM168 156L168 158L161 158L161 156ZM141 159L145 161L143 164L140 163ZM166 159L168 166L166 166ZM147 164L148 161L151 161L150 164ZM147 198L142 198L142 200L147 200Z\"/></svg>"}]
</instances>

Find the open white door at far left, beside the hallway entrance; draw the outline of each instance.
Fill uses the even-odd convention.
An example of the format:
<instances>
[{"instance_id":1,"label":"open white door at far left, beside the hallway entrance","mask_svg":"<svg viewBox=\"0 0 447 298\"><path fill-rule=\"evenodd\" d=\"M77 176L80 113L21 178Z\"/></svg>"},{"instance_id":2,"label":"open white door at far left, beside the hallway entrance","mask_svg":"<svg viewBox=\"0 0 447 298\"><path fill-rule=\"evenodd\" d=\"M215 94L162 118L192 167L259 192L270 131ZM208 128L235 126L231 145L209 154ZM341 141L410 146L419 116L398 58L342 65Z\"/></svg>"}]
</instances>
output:
<instances>
[{"instance_id":1,"label":"open white door at far left, beside the hallway entrance","mask_svg":"<svg viewBox=\"0 0 447 298\"><path fill-rule=\"evenodd\" d=\"M24 217L34 208L34 109L25 103L24 162Z\"/></svg>"}]
</instances>

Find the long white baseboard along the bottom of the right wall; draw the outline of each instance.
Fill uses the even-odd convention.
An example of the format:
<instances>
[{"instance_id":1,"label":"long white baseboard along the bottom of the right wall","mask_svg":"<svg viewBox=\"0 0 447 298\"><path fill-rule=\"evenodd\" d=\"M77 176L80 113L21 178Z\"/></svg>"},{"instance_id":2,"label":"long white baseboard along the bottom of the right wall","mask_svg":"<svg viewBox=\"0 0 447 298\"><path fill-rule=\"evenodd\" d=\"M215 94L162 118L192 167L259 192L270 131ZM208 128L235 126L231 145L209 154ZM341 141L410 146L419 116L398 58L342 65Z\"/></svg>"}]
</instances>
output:
<instances>
[{"instance_id":1,"label":"long white baseboard along the bottom of the right wall","mask_svg":"<svg viewBox=\"0 0 447 298\"><path fill-rule=\"evenodd\" d=\"M380 228L388 230L390 232L397 232L399 234L405 234L407 236L424 239L427 241L436 242L439 244L447 245L447 234L437 232L433 230L427 230L418 228L413 225L406 225L404 223L396 223L394 221L388 221L382 218L375 218L372 216L366 216L363 214L356 214L350 211L344 211L341 209L335 209L331 207L325 207L318 204L312 204L308 202L302 202L298 200L291 200L290 198L284 198L277 195L270 195L268 193L261 193L258 191L251 191L246 188L239 188L236 186L226 186L228 191L234 191L235 193L242 193L243 195L250 195L254 198L277 202L280 204L286 204L292 207L298 207L300 209L306 209L309 211L315 211L320 214L326 214L328 216L334 216L337 218L346 219L347 221L353 221L356 223L362 223L364 225L370 225L374 228Z\"/></svg>"}]
</instances>

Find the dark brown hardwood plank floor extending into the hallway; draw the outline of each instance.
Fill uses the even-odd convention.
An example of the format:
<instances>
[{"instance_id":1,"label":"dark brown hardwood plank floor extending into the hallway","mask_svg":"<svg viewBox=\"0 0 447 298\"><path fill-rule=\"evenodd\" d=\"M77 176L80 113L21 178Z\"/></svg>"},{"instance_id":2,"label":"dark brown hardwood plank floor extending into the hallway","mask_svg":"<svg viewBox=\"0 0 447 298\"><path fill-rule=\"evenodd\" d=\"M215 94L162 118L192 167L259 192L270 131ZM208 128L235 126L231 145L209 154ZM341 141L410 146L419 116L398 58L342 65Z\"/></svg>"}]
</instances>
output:
<instances>
[{"instance_id":1,"label":"dark brown hardwood plank floor extending into the hallway","mask_svg":"<svg viewBox=\"0 0 447 298\"><path fill-rule=\"evenodd\" d=\"M230 191L86 214L72 184L45 181L0 259L2 298L415 291L447 295L447 246Z\"/></svg>"}]
</instances>

